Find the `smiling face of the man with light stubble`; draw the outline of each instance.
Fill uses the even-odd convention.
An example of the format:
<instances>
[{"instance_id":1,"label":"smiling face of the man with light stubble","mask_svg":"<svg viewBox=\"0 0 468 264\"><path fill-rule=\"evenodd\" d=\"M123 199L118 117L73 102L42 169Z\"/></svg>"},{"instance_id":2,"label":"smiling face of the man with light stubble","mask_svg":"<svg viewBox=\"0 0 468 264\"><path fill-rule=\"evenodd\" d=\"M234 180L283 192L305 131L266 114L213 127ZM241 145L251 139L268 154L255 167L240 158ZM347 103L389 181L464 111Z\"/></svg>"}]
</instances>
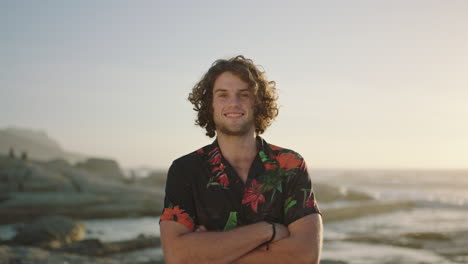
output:
<instances>
[{"instance_id":1,"label":"smiling face of the man with light stubble","mask_svg":"<svg viewBox=\"0 0 468 264\"><path fill-rule=\"evenodd\" d=\"M224 72L213 85L213 120L216 133L242 136L254 133L254 95L247 83Z\"/></svg>"}]
</instances>

